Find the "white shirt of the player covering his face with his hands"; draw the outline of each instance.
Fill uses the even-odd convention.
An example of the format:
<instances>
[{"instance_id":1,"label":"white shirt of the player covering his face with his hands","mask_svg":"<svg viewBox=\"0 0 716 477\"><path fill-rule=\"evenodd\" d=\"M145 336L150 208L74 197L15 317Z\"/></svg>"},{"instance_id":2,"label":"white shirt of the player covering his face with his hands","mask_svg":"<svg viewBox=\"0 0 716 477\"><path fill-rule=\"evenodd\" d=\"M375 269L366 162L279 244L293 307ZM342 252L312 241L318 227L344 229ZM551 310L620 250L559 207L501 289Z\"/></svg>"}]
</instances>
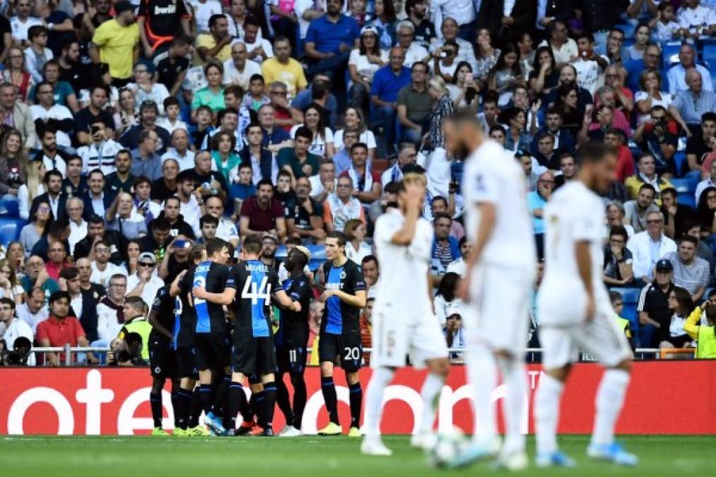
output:
<instances>
[{"instance_id":1,"label":"white shirt of the player covering his face with his hands","mask_svg":"<svg viewBox=\"0 0 716 477\"><path fill-rule=\"evenodd\" d=\"M432 314L427 294L427 271L432 253L433 229L425 218L419 218L415 235L409 246L392 243L405 217L390 208L375 221L373 239L380 263L374 309L392 307L390 319L419 322L425 314ZM410 276L407 280L405 277Z\"/></svg>"}]
</instances>

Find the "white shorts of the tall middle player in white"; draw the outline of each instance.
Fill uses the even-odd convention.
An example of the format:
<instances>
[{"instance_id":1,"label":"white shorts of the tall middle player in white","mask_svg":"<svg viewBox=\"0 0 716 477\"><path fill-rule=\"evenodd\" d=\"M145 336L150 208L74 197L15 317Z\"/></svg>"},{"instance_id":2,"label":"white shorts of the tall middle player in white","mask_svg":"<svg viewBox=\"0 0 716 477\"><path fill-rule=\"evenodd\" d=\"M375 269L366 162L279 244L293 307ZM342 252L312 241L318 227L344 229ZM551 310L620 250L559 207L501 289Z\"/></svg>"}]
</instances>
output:
<instances>
[{"instance_id":1,"label":"white shorts of the tall middle player in white","mask_svg":"<svg viewBox=\"0 0 716 477\"><path fill-rule=\"evenodd\" d=\"M468 346L519 351L527 346L533 270L484 265L473 270L463 323Z\"/></svg>"}]
</instances>

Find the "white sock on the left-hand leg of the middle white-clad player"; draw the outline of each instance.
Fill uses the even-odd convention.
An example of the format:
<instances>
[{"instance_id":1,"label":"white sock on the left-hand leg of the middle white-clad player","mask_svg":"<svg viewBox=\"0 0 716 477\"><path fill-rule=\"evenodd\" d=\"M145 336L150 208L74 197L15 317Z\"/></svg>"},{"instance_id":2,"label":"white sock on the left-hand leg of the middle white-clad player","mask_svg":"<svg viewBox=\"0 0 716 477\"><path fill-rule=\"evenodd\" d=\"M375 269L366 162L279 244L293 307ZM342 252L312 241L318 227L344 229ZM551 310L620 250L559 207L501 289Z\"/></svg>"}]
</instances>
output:
<instances>
[{"instance_id":1,"label":"white sock on the left-hand leg of the middle white-clad player","mask_svg":"<svg viewBox=\"0 0 716 477\"><path fill-rule=\"evenodd\" d=\"M492 392L497 384L495 358L486 347L476 345L465 354L468 362L468 380L473 385L475 405L475 428L473 442L492 445L497 436L495 406Z\"/></svg>"}]
</instances>

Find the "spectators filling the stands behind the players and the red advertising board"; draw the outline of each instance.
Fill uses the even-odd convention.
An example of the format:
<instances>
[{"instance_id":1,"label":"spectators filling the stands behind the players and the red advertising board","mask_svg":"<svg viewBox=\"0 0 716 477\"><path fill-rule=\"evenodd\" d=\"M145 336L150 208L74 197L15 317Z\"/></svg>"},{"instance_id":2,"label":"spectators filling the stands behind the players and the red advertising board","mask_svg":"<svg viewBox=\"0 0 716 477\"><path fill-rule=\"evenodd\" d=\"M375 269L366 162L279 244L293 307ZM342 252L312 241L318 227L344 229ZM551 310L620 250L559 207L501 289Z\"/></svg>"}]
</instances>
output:
<instances>
[{"instance_id":1,"label":"spectators filling the stands behind the players and the red advertising board","mask_svg":"<svg viewBox=\"0 0 716 477\"><path fill-rule=\"evenodd\" d=\"M362 269L369 346L372 228L408 172L427 177L436 339L464 347L465 155L448 155L441 127L458 109L521 163L538 256L580 145L617 148L604 281L641 290L623 320L634 345L693 344L684 325L716 264L714 0L9 0L0 13L6 350L26 337L141 364L149 309L196 244L221 238L238 258L259 235L282 279L287 251L309 246L319 284L333 231Z\"/></svg>"}]
</instances>

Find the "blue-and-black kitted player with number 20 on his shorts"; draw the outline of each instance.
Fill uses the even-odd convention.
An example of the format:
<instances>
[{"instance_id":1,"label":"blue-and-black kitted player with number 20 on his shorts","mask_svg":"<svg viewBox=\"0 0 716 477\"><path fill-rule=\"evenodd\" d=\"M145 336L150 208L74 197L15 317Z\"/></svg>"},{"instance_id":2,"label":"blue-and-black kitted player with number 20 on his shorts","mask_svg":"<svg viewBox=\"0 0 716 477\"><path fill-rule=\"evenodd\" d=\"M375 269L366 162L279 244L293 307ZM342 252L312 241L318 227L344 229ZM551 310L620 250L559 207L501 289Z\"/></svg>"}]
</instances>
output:
<instances>
[{"instance_id":1,"label":"blue-and-black kitted player with number 20 on his shorts","mask_svg":"<svg viewBox=\"0 0 716 477\"><path fill-rule=\"evenodd\" d=\"M326 238L326 263L323 264L321 302L326 304L321 320L318 354L321 362L321 390L331 422L319 435L341 435L338 397L333 368L339 363L346 372L350 390L351 425L349 437L360 437L360 412L363 391L358 371L363 361L359 316L365 307L366 291L359 266L345 255L346 236L333 231Z\"/></svg>"}]
</instances>

